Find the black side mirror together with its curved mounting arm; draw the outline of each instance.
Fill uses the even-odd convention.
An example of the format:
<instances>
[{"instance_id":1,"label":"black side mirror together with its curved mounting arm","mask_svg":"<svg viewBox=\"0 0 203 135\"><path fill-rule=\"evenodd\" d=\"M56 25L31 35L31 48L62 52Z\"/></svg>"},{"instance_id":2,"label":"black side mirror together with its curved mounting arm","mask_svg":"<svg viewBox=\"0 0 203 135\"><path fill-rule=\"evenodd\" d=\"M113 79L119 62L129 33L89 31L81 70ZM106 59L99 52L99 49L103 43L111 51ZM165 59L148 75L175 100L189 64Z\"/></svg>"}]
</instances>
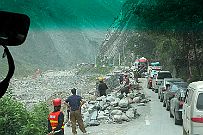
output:
<instances>
[{"instance_id":1,"label":"black side mirror together with its curved mounting arm","mask_svg":"<svg viewBox=\"0 0 203 135\"><path fill-rule=\"evenodd\" d=\"M6 93L10 79L15 71L13 57L7 46L21 45L26 37L30 26L27 15L0 11L0 46L4 48L3 57L7 57L8 73L0 82L0 98Z\"/></svg>"}]
</instances>

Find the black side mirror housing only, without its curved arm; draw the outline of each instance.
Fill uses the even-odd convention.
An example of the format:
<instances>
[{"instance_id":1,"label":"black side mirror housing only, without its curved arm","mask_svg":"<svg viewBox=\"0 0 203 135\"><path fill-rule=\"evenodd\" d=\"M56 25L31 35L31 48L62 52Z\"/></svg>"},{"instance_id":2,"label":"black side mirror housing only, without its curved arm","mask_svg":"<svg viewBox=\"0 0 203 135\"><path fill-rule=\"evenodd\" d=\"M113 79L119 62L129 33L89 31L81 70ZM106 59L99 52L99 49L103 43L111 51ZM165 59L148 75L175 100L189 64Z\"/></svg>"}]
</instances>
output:
<instances>
[{"instance_id":1,"label":"black side mirror housing only, without its curved arm","mask_svg":"<svg viewBox=\"0 0 203 135\"><path fill-rule=\"evenodd\" d=\"M18 46L26 37L30 26L27 15L0 11L0 45Z\"/></svg>"}]
</instances>

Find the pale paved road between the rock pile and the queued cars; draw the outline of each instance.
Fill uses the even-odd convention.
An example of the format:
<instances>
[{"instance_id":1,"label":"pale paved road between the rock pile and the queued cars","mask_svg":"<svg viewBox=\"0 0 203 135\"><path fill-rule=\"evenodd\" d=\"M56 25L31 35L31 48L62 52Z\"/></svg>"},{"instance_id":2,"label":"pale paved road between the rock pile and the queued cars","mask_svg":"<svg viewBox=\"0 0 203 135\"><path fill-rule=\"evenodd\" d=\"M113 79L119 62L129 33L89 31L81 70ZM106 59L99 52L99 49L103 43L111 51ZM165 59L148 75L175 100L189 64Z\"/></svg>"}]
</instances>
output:
<instances>
[{"instance_id":1,"label":"pale paved road between the rock pile and the queued cars","mask_svg":"<svg viewBox=\"0 0 203 135\"><path fill-rule=\"evenodd\" d=\"M174 124L174 119L169 117L169 112L162 107L157 94L146 88L146 81L143 81L143 88L151 102L145 107L141 120L134 128L128 127L127 135L181 135L182 126Z\"/></svg>"}]
</instances>

